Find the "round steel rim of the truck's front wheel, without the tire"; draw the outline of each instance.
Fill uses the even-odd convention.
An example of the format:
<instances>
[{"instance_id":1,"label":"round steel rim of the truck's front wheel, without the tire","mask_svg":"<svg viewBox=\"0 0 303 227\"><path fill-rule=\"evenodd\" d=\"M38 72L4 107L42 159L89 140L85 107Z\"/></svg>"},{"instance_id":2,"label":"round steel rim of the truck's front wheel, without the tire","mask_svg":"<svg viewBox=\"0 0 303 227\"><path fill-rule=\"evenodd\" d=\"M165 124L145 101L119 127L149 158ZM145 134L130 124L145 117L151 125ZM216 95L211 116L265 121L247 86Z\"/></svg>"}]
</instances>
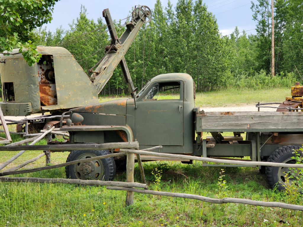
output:
<instances>
[{"instance_id":1,"label":"round steel rim of the truck's front wheel, without the tire","mask_svg":"<svg viewBox=\"0 0 303 227\"><path fill-rule=\"evenodd\" d=\"M84 153L78 156L78 160L96 157L93 153ZM73 166L73 171L78 179L82 180L99 180L104 173L104 166L100 159L76 163Z\"/></svg>"}]
</instances>

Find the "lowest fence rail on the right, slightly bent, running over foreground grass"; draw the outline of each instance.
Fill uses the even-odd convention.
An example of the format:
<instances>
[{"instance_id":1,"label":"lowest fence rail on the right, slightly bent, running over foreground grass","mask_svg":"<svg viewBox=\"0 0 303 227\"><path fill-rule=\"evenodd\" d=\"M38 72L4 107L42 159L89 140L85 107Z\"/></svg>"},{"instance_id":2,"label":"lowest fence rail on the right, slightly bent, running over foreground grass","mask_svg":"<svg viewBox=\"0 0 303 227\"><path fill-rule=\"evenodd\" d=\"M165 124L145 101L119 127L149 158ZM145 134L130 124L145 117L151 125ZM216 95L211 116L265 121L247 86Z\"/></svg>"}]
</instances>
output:
<instances>
[{"instance_id":1,"label":"lowest fence rail on the right, slightly bent, running over foreground grass","mask_svg":"<svg viewBox=\"0 0 303 227\"><path fill-rule=\"evenodd\" d=\"M197 199L197 200L201 200L204 202L211 202L211 203L233 202L233 203L242 203L242 204L248 204L248 205L253 205L253 206L280 207L280 208L284 208L284 209L303 211L303 206L301 206L301 205L293 205L293 204L288 204L288 203L283 203L283 202L264 202L264 201L250 200L250 199L238 199L238 198L228 198L228 197L223 198L223 199L213 199L213 198L209 198L209 197L205 197L205 196L185 194L185 193L158 192L158 191L143 190L143 189L138 189L138 188L127 188L127 187L107 186L106 189L132 191L132 192L157 195L157 196L170 196L170 197L178 197L178 198L186 198L186 199Z\"/></svg>"}]
</instances>

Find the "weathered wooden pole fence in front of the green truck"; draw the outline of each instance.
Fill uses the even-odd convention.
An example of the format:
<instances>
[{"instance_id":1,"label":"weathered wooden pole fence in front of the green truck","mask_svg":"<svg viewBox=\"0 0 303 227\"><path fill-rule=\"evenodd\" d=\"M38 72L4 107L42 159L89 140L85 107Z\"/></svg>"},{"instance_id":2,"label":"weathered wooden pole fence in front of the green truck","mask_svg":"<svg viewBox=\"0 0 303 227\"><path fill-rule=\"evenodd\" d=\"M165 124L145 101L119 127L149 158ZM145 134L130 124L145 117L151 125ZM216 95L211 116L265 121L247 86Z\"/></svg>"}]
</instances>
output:
<instances>
[{"instance_id":1,"label":"weathered wooden pole fence in front of the green truck","mask_svg":"<svg viewBox=\"0 0 303 227\"><path fill-rule=\"evenodd\" d=\"M58 165L53 166L44 166L34 169L23 169L18 170L23 166L26 166L27 164L38 160L40 157L44 156L45 153L40 154L39 156L28 160L16 167L7 169L5 171L0 172L0 181L4 182L32 182L32 183L65 183L65 184L82 184L82 185L100 185L100 186L107 186L106 188L109 190L124 190L126 191L126 205L129 206L134 201L134 192L138 193L144 193L144 194L152 194L152 195L159 195L159 196L171 196L171 197L179 197L179 198L188 198L188 199L198 199L205 202L211 202L211 203L243 203L248 205L254 205L254 206L268 206L268 207L280 207L285 209L293 209L293 210L300 210L303 211L303 206L300 205L293 205L293 204L287 204L282 202L263 202L263 201L255 201L255 200L249 200L249 199L238 199L238 198L223 198L223 199L213 199L205 196L199 196L199 195L192 195L192 194L184 194L184 193L173 193L173 192L158 192L158 191L151 191L146 190L148 189L148 186L146 184L145 180L145 174L143 165L141 162L141 156L140 155L150 155L150 156L158 156L158 157L169 157L169 158L178 158L178 159L185 159L185 160L198 160L198 161L204 161L204 162L212 162L212 163L226 163L226 164L241 164L241 165L260 165L260 166L281 166L281 167L292 167L292 168L303 168L303 164L286 164L286 163L270 163L270 162L252 162L252 161L237 161L237 160L220 160L220 159L214 159L214 158L205 158L205 157L196 157L196 156L188 156L188 155L179 155L179 154L167 154L167 153L157 153L157 152L151 152L151 150L159 149L162 146L156 146L152 148L148 148L145 150L138 150L139 149L139 143L138 142L121 142L121 143L103 143L103 144L63 144L63 145L33 145L38 140L40 140L42 137L44 137L47 134L52 133L53 128L49 130L44 130L43 134L39 134L37 137L22 140L20 142L16 142L7 146L0 146L0 151L19 151L18 154L21 156L23 153L25 153L26 150L48 150L51 152L54 151L71 151L71 150L105 150L105 149L114 149L119 148L119 153L112 153L104 156L96 156L92 158L86 159L86 161L92 161L112 156L125 156L127 160L126 165L126 182L116 182L116 181L101 181L101 180L81 180L81 179L49 179L49 178L33 178L33 177L10 177L7 175L14 175L14 174L21 174L21 173L31 173L46 169L54 169L59 168L63 166L72 165L75 163L81 163L83 160L75 160L67 163L62 163ZM31 145L25 145L25 146L16 146L16 145L22 145L24 143L32 142ZM135 168L135 154L137 156L139 169L141 172L142 182L143 183L137 183L134 182L134 168ZM18 156L18 157L19 157ZM5 166L7 166L9 163L11 163L13 160L18 158L17 155L8 160L7 162L0 165L0 169L3 169ZM138 189L143 188L143 189Z\"/></svg>"}]
</instances>

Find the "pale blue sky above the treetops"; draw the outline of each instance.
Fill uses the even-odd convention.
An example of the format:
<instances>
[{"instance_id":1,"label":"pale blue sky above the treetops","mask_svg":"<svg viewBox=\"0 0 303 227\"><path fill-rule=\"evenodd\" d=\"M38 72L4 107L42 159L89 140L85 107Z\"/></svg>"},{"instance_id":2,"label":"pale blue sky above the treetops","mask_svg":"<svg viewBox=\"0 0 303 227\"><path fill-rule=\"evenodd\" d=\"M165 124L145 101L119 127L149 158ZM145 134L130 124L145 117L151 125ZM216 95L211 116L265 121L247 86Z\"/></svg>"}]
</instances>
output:
<instances>
[{"instance_id":1,"label":"pale blue sky above the treetops","mask_svg":"<svg viewBox=\"0 0 303 227\"><path fill-rule=\"evenodd\" d=\"M140 4L153 8L155 2L156 0L61 0L57 2L54 7L52 22L46 26L47 30L51 31L55 31L60 25L68 29L68 24L78 17L81 4L87 8L88 18L93 18L97 21L97 18L102 17L102 11L105 8L109 8L113 19L119 20L128 15L132 6ZM167 0L162 0L161 2L164 7L167 6ZM250 9L251 0L204 0L203 2L208 5L208 10L217 18L219 30L222 35L231 34L235 26L238 26L240 31L247 31L256 27L255 21L252 20L252 12ZM175 8L177 0L171 0L171 3ZM256 34L256 31L251 30L247 31L247 33Z\"/></svg>"}]
</instances>

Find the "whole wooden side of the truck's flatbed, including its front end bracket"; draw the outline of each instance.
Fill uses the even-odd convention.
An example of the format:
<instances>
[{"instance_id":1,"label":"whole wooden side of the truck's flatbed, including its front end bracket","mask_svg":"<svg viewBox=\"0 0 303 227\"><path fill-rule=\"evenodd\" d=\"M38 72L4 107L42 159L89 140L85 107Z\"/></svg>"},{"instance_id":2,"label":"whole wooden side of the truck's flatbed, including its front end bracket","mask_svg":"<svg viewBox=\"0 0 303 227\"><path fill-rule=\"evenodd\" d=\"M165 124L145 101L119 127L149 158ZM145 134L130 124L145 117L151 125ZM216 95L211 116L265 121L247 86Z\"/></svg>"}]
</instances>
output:
<instances>
[{"instance_id":1,"label":"whole wooden side of the truck's flatbed, including its front end bracket","mask_svg":"<svg viewBox=\"0 0 303 227\"><path fill-rule=\"evenodd\" d=\"M198 109L197 132L303 131L303 112L204 112Z\"/></svg>"}]
</instances>

